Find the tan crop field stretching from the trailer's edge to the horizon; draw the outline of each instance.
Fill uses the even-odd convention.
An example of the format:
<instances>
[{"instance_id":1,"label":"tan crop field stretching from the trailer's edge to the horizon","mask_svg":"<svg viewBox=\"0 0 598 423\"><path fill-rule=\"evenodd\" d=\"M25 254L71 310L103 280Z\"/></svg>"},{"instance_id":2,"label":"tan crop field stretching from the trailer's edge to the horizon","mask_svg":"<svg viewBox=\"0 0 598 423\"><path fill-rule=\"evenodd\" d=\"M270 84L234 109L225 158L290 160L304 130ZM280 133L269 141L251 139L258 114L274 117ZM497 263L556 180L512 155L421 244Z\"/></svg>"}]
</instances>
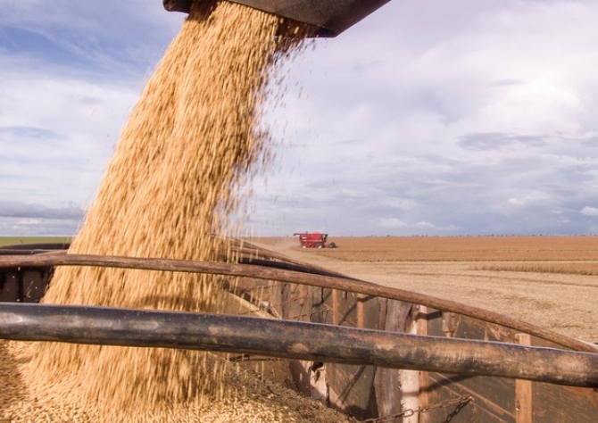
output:
<instances>
[{"instance_id":1,"label":"tan crop field stretching from the trailer's edge to the horizon","mask_svg":"<svg viewBox=\"0 0 598 423\"><path fill-rule=\"evenodd\" d=\"M598 343L598 236L328 237L253 243L385 286L466 303Z\"/></svg>"}]
</instances>

